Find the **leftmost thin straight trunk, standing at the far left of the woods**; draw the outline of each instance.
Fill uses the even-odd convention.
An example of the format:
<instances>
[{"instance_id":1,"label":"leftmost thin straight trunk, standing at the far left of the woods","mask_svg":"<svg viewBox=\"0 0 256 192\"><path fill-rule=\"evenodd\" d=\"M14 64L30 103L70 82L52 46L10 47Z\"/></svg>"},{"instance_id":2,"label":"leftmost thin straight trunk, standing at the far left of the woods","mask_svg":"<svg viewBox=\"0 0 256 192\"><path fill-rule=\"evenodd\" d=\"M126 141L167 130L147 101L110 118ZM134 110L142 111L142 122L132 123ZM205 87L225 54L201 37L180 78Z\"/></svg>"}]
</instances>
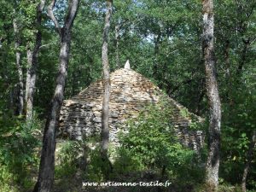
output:
<instances>
[{"instance_id":1,"label":"leftmost thin straight trunk, standing at the far left of the woods","mask_svg":"<svg viewBox=\"0 0 256 192\"><path fill-rule=\"evenodd\" d=\"M17 111L16 113L18 115L21 115L23 113L24 108L24 94L23 94L23 72L21 67L21 61L20 61L20 30L19 26L17 24L17 20L14 19L13 21L14 31L15 31L15 56L16 56L16 67L18 69L18 77L19 77L19 83L18 83L18 105L17 105Z\"/></svg>"}]
</instances>

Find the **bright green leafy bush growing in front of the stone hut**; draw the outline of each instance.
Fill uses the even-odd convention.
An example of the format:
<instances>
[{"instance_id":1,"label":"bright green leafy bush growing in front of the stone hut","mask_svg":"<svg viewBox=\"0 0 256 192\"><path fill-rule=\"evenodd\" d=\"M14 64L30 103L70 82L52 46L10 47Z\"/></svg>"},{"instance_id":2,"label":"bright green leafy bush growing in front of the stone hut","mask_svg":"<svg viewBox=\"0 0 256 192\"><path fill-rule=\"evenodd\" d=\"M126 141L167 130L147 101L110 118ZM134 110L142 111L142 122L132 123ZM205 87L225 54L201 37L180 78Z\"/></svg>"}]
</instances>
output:
<instances>
[{"instance_id":1,"label":"bright green leafy bush growing in front of the stone hut","mask_svg":"<svg viewBox=\"0 0 256 192\"><path fill-rule=\"evenodd\" d=\"M140 172L166 167L164 174L176 182L186 185L201 181L197 156L178 143L170 122L172 111L166 106L165 102L148 106L136 122L128 124L129 133L120 137L116 168L125 167L119 172Z\"/></svg>"}]
</instances>

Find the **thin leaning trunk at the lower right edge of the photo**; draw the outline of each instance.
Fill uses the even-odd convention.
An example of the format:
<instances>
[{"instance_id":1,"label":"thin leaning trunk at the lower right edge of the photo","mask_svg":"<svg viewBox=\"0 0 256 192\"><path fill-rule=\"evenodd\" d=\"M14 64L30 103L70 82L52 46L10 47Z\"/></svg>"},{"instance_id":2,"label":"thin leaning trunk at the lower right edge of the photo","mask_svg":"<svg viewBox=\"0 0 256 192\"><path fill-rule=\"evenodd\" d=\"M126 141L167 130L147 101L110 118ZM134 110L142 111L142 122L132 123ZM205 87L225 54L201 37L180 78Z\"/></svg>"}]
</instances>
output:
<instances>
[{"instance_id":1,"label":"thin leaning trunk at the lower right edge of the photo","mask_svg":"<svg viewBox=\"0 0 256 192\"><path fill-rule=\"evenodd\" d=\"M256 131L253 131L253 137L250 143L250 146L248 148L247 151L247 161L243 170L243 174L242 174L242 179L241 179L241 190L242 192L246 192L247 191L247 175L248 172L250 170L250 165L253 159L253 150L255 148L255 144L256 144Z\"/></svg>"}]
</instances>

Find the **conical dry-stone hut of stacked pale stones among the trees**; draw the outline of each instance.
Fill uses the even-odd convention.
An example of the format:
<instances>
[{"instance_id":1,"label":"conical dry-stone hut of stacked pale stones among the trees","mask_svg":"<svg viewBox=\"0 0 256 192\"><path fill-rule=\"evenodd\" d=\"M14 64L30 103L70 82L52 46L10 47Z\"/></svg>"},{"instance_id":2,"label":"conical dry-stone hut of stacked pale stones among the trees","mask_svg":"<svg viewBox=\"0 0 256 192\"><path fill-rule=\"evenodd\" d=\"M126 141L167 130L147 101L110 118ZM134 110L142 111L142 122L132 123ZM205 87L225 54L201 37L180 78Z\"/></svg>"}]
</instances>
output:
<instances>
[{"instance_id":1,"label":"conical dry-stone hut of stacked pale stones among the trees","mask_svg":"<svg viewBox=\"0 0 256 192\"><path fill-rule=\"evenodd\" d=\"M130 67L118 69L110 74L111 92L109 102L109 140L118 143L117 133L127 131L125 121L137 118L138 113L150 103L160 102L163 92L149 79L133 71ZM65 100L61 107L61 136L81 140L100 134L102 126L103 81L90 84L79 95ZM201 118L189 113L171 97L166 96L169 108L172 108L172 125L181 142L197 150L203 144L202 131L189 131L191 119ZM187 112L183 115L183 112Z\"/></svg>"}]
</instances>

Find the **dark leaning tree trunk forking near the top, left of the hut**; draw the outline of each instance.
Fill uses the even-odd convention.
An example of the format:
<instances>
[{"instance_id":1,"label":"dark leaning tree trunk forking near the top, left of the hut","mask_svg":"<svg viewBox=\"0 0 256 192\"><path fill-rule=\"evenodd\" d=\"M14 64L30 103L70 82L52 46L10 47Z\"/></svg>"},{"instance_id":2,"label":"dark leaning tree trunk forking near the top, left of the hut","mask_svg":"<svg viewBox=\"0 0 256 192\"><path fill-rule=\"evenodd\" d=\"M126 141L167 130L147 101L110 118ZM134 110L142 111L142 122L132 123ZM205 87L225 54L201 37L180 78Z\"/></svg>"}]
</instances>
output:
<instances>
[{"instance_id":1,"label":"dark leaning tree trunk forking near the top, left of the hut","mask_svg":"<svg viewBox=\"0 0 256 192\"><path fill-rule=\"evenodd\" d=\"M49 17L55 21L52 9L55 6L55 0L49 6ZM72 0L69 3L68 13L64 26L59 27L55 23L56 31L61 37L60 65L59 73L56 79L55 94L51 102L49 117L44 128L43 149L38 172L38 182L35 185L34 192L49 192L54 181L55 171L55 133L59 126L59 117L61 104L64 97L65 81L67 78L67 63L71 43L71 28L73 20L79 7L79 0Z\"/></svg>"}]
</instances>

